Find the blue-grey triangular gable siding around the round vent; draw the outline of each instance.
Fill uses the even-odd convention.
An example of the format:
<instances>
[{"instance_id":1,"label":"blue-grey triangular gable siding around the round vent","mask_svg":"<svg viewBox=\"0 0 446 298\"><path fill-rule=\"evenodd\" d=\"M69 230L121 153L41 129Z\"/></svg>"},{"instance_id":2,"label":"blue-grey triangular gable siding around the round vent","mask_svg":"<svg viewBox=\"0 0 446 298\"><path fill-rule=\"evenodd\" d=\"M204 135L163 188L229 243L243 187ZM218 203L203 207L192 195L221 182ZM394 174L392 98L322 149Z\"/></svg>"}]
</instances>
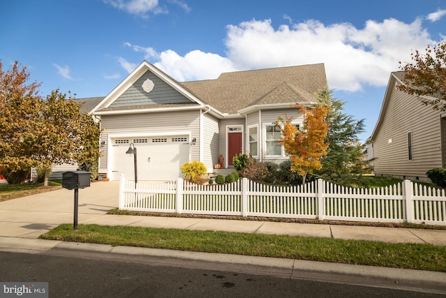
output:
<instances>
[{"instance_id":1,"label":"blue-grey triangular gable siding around the round vent","mask_svg":"<svg viewBox=\"0 0 446 298\"><path fill-rule=\"evenodd\" d=\"M146 80L155 84L153 90L147 93L142 89ZM164 103L190 103L190 100L172 88L150 71L142 75L132 86L119 96L110 107L130 107L137 105L157 105Z\"/></svg>"}]
</instances>

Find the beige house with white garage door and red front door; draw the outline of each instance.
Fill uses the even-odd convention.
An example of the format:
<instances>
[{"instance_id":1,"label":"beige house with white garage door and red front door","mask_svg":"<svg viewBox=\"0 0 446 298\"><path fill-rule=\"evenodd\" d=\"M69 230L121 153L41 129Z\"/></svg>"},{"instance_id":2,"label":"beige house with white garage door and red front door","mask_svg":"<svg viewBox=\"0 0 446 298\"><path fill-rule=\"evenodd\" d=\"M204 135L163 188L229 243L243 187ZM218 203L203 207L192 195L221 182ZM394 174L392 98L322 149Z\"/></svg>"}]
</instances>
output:
<instances>
[{"instance_id":1,"label":"beige house with white garage door and red front door","mask_svg":"<svg viewBox=\"0 0 446 298\"><path fill-rule=\"evenodd\" d=\"M279 115L302 123L292 106L316 102L315 92L327 84L323 64L222 73L215 80L177 82L143 61L91 113L104 129L99 173L118 180L182 177L187 161L203 162L208 172L219 163L232 167L236 154L279 163L287 158L272 124Z\"/></svg>"}]
</instances>

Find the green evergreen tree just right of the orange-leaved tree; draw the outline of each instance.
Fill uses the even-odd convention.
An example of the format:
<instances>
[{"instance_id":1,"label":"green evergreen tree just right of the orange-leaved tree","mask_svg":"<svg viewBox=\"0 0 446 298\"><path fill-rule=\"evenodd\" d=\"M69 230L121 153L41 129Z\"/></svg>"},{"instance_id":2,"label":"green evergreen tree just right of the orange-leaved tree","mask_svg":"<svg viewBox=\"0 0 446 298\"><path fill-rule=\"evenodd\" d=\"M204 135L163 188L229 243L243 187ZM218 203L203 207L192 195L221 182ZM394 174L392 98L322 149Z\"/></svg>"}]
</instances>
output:
<instances>
[{"instance_id":1,"label":"green evergreen tree just right of the orange-leaved tree","mask_svg":"<svg viewBox=\"0 0 446 298\"><path fill-rule=\"evenodd\" d=\"M315 174L337 184L359 183L362 174L370 171L364 160L366 144L358 135L364 132L364 119L356 120L344 112L344 101L333 97L333 90L322 89L316 94L321 105L331 107L326 121L328 126L327 154L321 158L322 167Z\"/></svg>"}]
</instances>

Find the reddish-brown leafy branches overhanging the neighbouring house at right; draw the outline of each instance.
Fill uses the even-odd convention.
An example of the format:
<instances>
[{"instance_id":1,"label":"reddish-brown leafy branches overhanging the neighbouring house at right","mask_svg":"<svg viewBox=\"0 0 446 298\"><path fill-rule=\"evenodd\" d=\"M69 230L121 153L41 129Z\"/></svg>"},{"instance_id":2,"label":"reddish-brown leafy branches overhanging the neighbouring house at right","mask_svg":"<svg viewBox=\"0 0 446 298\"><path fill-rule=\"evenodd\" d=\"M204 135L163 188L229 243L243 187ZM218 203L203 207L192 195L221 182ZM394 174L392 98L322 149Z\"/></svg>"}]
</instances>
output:
<instances>
[{"instance_id":1,"label":"reddish-brown leafy branches overhanging the neighbouring house at right","mask_svg":"<svg viewBox=\"0 0 446 298\"><path fill-rule=\"evenodd\" d=\"M435 110L446 110L446 42L434 47L427 45L425 53L418 50L411 53L412 62L400 64L404 71L403 85L398 88L408 94L432 96L420 98L425 105L432 105Z\"/></svg>"}]
</instances>

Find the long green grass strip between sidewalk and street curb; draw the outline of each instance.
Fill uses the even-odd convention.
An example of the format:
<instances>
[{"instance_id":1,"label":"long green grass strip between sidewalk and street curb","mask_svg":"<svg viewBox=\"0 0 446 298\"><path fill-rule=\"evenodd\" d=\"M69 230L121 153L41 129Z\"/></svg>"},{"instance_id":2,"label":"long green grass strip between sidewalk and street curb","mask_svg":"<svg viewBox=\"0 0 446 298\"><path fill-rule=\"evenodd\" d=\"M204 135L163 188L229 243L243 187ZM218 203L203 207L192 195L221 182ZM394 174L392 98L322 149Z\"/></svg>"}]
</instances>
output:
<instances>
[{"instance_id":1,"label":"long green grass strip between sidewalk and street curb","mask_svg":"<svg viewBox=\"0 0 446 298\"><path fill-rule=\"evenodd\" d=\"M446 246L109 225L59 227L40 239L446 271Z\"/></svg>"}]
</instances>

